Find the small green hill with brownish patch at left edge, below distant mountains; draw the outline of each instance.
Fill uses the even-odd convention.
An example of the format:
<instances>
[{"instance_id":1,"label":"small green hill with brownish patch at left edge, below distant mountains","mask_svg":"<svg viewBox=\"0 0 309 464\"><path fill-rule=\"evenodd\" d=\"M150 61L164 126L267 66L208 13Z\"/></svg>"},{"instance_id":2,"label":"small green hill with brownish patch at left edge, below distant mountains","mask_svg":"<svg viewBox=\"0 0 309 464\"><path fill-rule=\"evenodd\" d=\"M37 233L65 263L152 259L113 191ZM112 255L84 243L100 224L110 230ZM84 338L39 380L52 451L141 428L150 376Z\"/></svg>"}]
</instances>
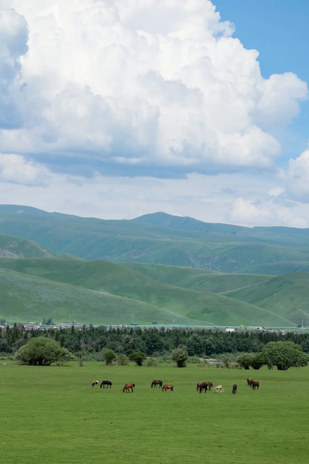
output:
<instances>
[{"instance_id":1,"label":"small green hill with brownish patch at left edge, below distant mountains","mask_svg":"<svg viewBox=\"0 0 309 464\"><path fill-rule=\"evenodd\" d=\"M25 238L0 234L0 257L54 258L54 254L38 243Z\"/></svg>"}]
</instances>

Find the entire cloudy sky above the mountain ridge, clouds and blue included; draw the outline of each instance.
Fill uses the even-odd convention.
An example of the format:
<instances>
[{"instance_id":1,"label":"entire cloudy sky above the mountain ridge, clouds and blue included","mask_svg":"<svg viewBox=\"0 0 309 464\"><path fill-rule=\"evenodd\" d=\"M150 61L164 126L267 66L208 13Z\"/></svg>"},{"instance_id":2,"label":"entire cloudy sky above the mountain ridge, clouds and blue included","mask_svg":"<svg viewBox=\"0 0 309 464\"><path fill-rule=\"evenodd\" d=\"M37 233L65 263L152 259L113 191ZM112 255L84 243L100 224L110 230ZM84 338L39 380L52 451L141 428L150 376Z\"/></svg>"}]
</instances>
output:
<instances>
[{"instance_id":1,"label":"entire cloudy sky above the mountain ridge, clouds and blue included","mask_svg":"<svg viewBox=\"0 0 309 464\"><path fill-rule=\"evenodd\" d=\"M1 8L3 203L309 226L309 2Z\"/></svg>"}]
</instances>

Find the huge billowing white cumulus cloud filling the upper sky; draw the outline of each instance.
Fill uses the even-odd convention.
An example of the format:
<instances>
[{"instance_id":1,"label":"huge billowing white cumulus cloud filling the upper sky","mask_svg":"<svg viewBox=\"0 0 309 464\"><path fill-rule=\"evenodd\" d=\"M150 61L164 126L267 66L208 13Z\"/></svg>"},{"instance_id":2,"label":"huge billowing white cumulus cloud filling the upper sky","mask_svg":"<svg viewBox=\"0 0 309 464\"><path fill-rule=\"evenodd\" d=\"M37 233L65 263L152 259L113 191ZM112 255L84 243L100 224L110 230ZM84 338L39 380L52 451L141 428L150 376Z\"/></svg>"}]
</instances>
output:
<instances>
[{"instance_id":1,"label":"huge billowing white cumulus cloud filling the upper sky","mask_svg":"<svg viewBox=\"0 0 309 464\"><path fill-rule=\"evenodd\" d=\"M1 6L13 27L2 31L0 57L14 72L0 98L19 121L0 120L6 152L268 168L280 154L271 131L307 96L293 73L264 79L258 52L232 37L208 0Z\"/></svg>"}]
</instances>

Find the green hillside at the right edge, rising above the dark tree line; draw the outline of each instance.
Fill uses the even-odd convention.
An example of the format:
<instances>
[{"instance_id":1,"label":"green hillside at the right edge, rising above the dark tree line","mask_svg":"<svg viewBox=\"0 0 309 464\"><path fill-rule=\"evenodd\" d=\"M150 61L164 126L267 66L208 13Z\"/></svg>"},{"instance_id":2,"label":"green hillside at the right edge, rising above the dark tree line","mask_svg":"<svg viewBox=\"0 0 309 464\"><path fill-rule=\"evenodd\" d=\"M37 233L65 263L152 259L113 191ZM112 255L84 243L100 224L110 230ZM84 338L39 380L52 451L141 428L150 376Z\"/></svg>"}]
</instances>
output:
<instances>
[{"instance_id":1,"label":"green hillside at the right edge, rising above the dark tree line","mask_svg":"<svg viewBox=\"0 0 309 464\"><path fill-rule=\"evenodd\" d=\"M273 277L249 288L225 293L295 322L309 325L309 273L295 273Z\"/></svg>"}]
</instances>

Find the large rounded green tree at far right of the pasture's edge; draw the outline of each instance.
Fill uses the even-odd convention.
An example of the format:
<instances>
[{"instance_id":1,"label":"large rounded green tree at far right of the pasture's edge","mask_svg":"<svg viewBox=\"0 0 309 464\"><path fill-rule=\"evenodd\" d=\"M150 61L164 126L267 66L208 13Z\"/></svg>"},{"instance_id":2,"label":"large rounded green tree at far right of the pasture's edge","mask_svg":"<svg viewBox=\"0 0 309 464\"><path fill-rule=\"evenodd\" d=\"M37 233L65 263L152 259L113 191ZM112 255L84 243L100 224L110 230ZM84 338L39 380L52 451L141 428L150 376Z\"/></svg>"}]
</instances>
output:
<instances>
[{"instance_id":1,"label":"large rounded green tree at far right of the pasture's edge","mask_svg":"<svg viewBox=\"0 0 309 464\"><path fill-rule=\"evenodd\" d=\"M261 359L268 366L277 366L278 371L286 371L289 367L307 366L309 354L293 342L269 342L262 350Z\"/></svg>"}]
</instances>

